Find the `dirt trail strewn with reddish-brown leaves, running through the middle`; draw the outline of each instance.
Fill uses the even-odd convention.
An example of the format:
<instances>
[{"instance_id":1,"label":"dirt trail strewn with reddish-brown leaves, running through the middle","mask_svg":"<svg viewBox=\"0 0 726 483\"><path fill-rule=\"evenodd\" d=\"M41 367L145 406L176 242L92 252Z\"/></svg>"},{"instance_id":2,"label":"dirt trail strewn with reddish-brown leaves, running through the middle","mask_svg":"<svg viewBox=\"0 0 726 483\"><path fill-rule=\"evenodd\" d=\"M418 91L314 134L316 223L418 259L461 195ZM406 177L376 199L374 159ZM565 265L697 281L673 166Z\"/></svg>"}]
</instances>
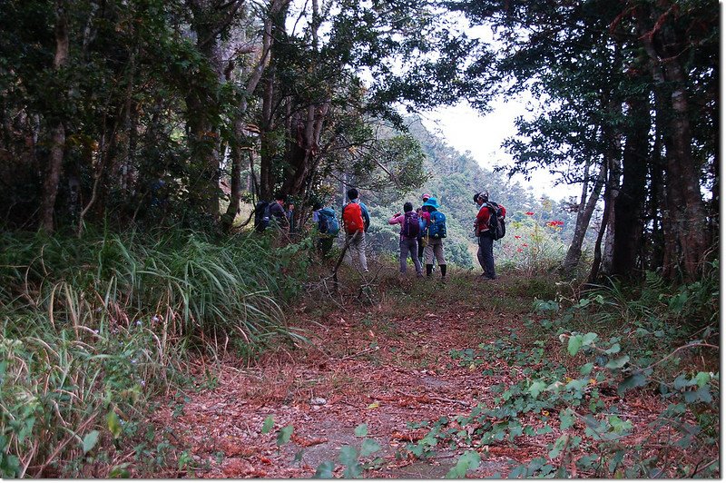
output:
<instances>
[{"instance_id":1,"label":"dirt trail strewn with reddish-brown leaves, running through the middle","mask_svg":"<svg viewBox=\"0 0 726 483\"><path fill-rule=\"evenodd\" d=\"M406 283L399 289L416 290ZM427 461L401 458L407 442L426 434L407 423L468 414L486 401L488 388L501 380L460 367L449 351L476 348L521 321L484 317L456 298L407 318L391 317L390 307L384 301L368 311L338 311L316 320L306 327L314 333L313 346L268 354L250 369L230 363L214 389L188 395L181 417L172 418L171 409L158 417L172 426L182 446L191 447L196 467L204 467L196 471L201 478L311 478L326 460L336 464L339 476L339 449L360 449L363 438L354 431L363 423L367 438L381 449L362 461L383 458L364 477L441 478L463 449L438 451ZM261 434L270 415L274 429ZM276 433L288 425L294 432L279 449ZM490 452L470 475L506 475L510 458L532 458L529 453L527 447L516 454L508 448Z\"/></svg>"}]
</instances>

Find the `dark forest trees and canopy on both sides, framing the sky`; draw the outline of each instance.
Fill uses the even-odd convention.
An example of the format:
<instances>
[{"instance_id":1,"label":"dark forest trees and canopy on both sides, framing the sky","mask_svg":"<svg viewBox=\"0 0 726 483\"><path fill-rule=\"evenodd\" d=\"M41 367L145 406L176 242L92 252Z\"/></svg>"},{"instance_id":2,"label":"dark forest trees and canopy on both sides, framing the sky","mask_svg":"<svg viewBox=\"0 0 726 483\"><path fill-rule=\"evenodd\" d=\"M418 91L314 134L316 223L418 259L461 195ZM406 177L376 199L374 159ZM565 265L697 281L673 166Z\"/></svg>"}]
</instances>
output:
<instances>
[{"instance_id":1,"label":"dark forest trees and canopy on both sides, framing the sky","mask_svg":"<svg viewBox=\"0 0 726 483\"><path fill-rule=\"evenodd\" d=\"M230 231L277 191L407 192L432 180L406 113L526 90L509 173L583 188L564 269L602 200L593 279L692 279L720 222L719 35L713 0L9 0L0 209Z\"/></svg>"}]
</instances>

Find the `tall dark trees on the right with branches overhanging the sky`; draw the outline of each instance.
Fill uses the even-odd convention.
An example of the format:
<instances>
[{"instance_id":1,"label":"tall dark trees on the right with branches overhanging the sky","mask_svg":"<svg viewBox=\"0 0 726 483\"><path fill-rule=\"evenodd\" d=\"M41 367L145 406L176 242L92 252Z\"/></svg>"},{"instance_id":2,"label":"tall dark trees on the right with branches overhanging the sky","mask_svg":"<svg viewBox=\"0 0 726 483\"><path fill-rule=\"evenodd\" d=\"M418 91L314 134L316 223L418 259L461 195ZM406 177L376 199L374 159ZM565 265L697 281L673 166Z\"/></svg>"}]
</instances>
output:
<instances>
[{"instance_id":1,"label":"tall dark trees on the right with branches overhanging the sky","mask_svg":"<svg viewBox=\"0 0 726 483\"><path fill-rule=\"evenodd\" d=\"M637 273L633 240L639 239L639 229L633 228L633 222L640 221L636 227L652 227L652 255L662 252L663 273L674 278L682 271L689 278L696 277L711 243L705 229L701 179L711 177L715 185L718 174L711 169L715 143L703 129L699 135L692 133L692 125L699 119L692 100L695 92L715 98L711 94L717 70L717 56L713 54L718 33L715 2L462 0L448 5L477 24L495 29L498 40L505 44L495 75L502 82L509 80L515 89L525 86L543 95L545 102L554 106L551 121L568 110L576 111L580 114L573 118L573 125L597 119L602 133L612 133L589 139L576 135L567 138L566 127L550 129L554 122L538 126L521 123L520 142L509 145L517 156L515 170L526 171L535 164L552 169L562 161L537 150L536 143L543 139L565 151L594 139L602 141L594 147L602 162L612 163L615 170L608 176L605 190L606 196L612 197L605 203L613 210L608 217L613 222L613 271ZM645 68L643 59L647 59ZM655 100L652 105L651 92ZM610 102L599 102L604 98ZM704 104L706 118L713 119L712 103ZM606 108L594 109L596 105ZM650 110L654 116L647 115ZM703 127L708 124L698 123ZM657 133L653 143L647 141L650 133ZM663 153L658 151L660 146ZM657 186L646 189L646 183L658 182L654 171L661 156L665 166L662 198ZM583 173L582 167L587 165L586 156L570 157L564 164L564 178ZM643 173L649 170L652 175L645 177ZM655 202L650 204L657 206L655 211L646 213L646 193ZM662 203L656 201L661 199ZM629 201L632 204L628 206ZM659 241L661 222L664 236ZM662 250L658 243L662 243ZM641 264L646 265L652 263Z\"/></svg>"}]
</instances>

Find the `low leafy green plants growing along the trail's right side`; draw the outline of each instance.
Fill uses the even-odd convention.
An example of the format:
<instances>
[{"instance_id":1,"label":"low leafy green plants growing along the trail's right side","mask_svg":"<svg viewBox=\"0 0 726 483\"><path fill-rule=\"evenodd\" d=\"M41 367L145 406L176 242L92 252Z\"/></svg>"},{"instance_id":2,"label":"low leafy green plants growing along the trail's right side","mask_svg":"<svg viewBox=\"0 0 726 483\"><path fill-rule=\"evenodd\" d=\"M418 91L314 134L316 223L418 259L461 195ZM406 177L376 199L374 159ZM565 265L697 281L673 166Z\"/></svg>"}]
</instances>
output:
<instances>
[{"instance_id":1,"label":"low leafy green plants growing along the trail's right side","mask_svg":"<svg viewBox=\"0 0 726 483\"><path fill-rule=\"evenodd\" d=\"M555 362L551 358L553 350L544 350L545 340L526 343L514 331L481 344L477 350L453 350L450 355L461 365L476 369L486 363L494 369L484 370L485 377L515 382L491 387L495 399L490 407L480 404L469 414L441 418L434 423L424 421L414 427L430 428L427 438L451 449L499 441L516 444L523 436L556 435L554 442L547 445L548 458L535 458L516 466L509 478L569 478L573 476L573 462L579 476L589 478L718 475L718 459L704 459L702 466L696 467L685 464L684 459L693 454L709 458L713 455L712 445L718 440L713 430L720 403L720 374L715 357L718 345L710 340L717 340L711 320L713 311L718 319L719 311L714 301L701 297L703 292L713 293L715 287L715 280L706 278L695 287L688 283L669 288L651 276L642 290L633 291L636 298L625 295L621 288L590 291L569 307L564 299L535 301L535 311L556 316L549 329L543 327L545 337L553 337L554 328L559 327L558 339L571 359ZM675 307L668 303L681 293L690 296ZM652 311L643 311L646 300L662 302ZM632 306L626 307L628 304ZM662 334L657 340L660 346L649 346L652 350L643 350L643 324L638 326L641 330L619 329L621 324L631 327L633 320L640 320L644 313L650 324L656 323L655 317L662 317L657 327L678 326L682 319L677 309L685 306L690 307L691 313L699 314L700 319L691 320L688 330L673 331L672 337ZM615 327L611 325L617 333L614 337L563 329L584 324L603 311L628 317L619 319ZM701 339L682 343L675 337L692 334L692 330L699 328L697 334ZM652 338L650 330L648 335ZM688 365L682 363L687 356L693 358ZM711 370L692 369L702 363ZM603 395L616 393L618 398L630 400L643 389L657 390L667 407L653 419L648 434L640 435L633 444L633 420L618 406L606 403ZM557 420L559 425L555 426L553 422ZM697 422L692 424L694 420ZM659 439L662 434L671 435L668 442ZM464 468L460 462L449 475L461 477Z\"/></svg>"}]
</instances>

